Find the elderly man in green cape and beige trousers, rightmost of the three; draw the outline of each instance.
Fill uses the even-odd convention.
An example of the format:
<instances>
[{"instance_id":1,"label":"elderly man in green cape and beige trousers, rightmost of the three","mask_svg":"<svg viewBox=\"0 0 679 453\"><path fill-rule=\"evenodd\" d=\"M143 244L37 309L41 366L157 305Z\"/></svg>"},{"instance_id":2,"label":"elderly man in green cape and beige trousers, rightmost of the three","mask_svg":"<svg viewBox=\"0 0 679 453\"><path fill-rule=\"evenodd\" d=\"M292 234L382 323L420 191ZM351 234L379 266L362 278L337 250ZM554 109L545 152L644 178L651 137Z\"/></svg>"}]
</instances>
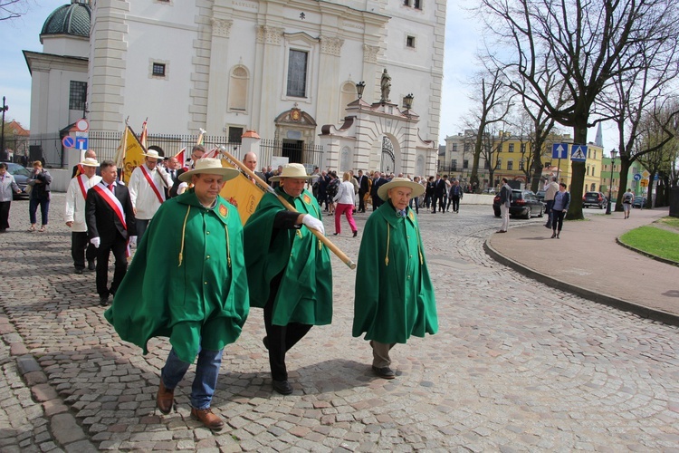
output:
<instances>
[{"instance_id":1,"label":"elderly man in green cape and beige trousers, rightmost of the three","mask_svg":"<svg viewBox=\"0 0 679 453\"><path fill-rule=\"evenodd\" d=\"M426 268L417 219L410 198L425 188L393 178L378 189L382 206L368 217L356 269L353 336L366 333L373 350L372 370L394 379L389 351L410 335L438 331L434 286Z\"/></svg>"}]
</instances>

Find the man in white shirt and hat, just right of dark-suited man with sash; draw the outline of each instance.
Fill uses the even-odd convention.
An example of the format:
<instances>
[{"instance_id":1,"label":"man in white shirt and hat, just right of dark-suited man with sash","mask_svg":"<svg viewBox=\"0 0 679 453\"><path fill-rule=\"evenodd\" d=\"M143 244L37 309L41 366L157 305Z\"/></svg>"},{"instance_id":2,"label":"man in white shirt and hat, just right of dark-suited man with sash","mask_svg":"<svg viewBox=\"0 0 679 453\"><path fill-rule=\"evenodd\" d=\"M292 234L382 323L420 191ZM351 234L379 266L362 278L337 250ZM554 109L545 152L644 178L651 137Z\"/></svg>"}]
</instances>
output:
<instances>
[{"instance_id":1,"label":"man in white shirt and hat, just right of dark-suited man with sash","mask_svg":"<svg viewBox=\"0 0 679 453\"><path fill-rule=\"evenodd\" d=\"M165 169L158 167L160 159L158 151L148 149L144 157L144 163L132 171L128 184L139 241L146 231L148 222L165 201L166 188L172 187L172 178Z\"/></svg>"}]
</instances>

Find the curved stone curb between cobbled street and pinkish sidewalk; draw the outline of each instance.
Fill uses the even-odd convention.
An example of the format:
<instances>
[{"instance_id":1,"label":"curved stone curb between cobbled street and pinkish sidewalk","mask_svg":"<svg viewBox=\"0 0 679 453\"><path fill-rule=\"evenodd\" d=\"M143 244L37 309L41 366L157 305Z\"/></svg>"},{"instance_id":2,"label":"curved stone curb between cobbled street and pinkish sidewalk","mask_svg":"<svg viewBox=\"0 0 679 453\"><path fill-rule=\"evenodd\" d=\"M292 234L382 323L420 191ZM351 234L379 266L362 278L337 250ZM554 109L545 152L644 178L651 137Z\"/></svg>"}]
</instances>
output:
<instances>
[{"instance_id":1,"label":"curved stone curb between cobbled street and pinkish sidewalk","mask_svg":"<svg viewBox=\"0 0 679 453\"><path fill-rule=\"evenodd\" d=\"M491 236L492 237L492 236ZM619 299L612 295L596 293L594 291L588 290L576 284L569 284L564 281L554 278L550 275L542 274L526 265L514 261L512 258L502 255L500 252L495 250L490 244L491 238L489 237L483 242L483 250L489 256L491 256L495 261L502 265L507 265L512 267L515 271L518 271L522 275L526 275L533 280L537 280L540 283L547 284L553 288L557 288L562 291L567 291L572 294L577 294L580 297L584 297L597 304L604 304L618 310L623 310L630 313L635 313L642 318L652 319L654 321L659 321L661 323L679 326L679 316L673 313L667 313L662 310L655 310L648 308L633 302L629 302L623 299Z\"/></svg>"}]
</instances>

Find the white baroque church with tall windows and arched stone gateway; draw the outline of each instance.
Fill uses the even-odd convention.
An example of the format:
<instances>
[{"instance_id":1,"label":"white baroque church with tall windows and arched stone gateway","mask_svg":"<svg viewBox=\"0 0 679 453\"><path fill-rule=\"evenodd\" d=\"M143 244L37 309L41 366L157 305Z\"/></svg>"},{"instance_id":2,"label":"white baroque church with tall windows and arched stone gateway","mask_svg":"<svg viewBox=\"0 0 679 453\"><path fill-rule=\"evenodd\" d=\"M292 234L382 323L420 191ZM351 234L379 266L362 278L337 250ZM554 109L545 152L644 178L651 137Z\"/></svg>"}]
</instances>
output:
<instances>
[{"instance_id":1,"label":"white baroque church with tall windows and arched stone gateway","mask_svg":"<svg viewBox=\"0 0 679 453\"><path fill-rule=\"evenodd\" d=\"M205 129L238 141L255 130L330 148L322 164L341 170L378 169L387 137L394 171L435 167L445 0L72 3L91 8L91 130L120 131L128 117L167 135Z\"/></svg>"}]
</instances>

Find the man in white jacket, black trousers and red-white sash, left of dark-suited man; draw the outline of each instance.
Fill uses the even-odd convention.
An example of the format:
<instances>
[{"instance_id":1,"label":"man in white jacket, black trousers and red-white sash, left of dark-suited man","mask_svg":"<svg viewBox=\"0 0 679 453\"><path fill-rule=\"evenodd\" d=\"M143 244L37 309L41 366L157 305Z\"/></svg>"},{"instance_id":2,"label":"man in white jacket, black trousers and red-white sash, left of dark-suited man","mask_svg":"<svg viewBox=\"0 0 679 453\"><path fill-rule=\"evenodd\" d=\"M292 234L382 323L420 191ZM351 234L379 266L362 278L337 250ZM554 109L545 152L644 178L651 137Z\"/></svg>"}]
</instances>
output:
<instances>
[{"instance_id":1,"label":"man in white jacket, black trousers and red-white sash, left of dark-suited man","mask_svg":"<svg viewBox=\"0 0 679 453\"><path fill-rule=\"evenodd\" d=\"M89 151L88 151L89 152ZM66 190L66 206L63 210L63 220L71 228L71 256L76 274L82 274L87 258L88 269L94 270L94 258L97 250L87 240L87 223L85 223L85 199L87 192L101 177L95 173L99 169L97 159L85 158L81 163L83 173L71 179ZM87 249L87 251L85 251Z\"/></svg>"}]
</instances>

